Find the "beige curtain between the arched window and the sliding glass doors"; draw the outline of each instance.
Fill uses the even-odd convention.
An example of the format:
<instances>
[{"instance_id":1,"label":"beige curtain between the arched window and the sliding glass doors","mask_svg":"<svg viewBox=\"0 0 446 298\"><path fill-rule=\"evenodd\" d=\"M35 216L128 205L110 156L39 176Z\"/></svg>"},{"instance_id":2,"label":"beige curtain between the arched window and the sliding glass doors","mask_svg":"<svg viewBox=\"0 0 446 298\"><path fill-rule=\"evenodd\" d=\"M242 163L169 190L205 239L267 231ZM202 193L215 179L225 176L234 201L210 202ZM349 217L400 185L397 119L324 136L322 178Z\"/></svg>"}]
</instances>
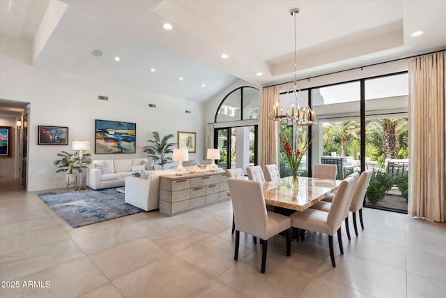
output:
<instances>
[{"instance_id":1,"label":"beige curtain between the arched window and the sliding glass doors","mask_svg":"<svg viewBox=\"0 0 446 298\"><path fill-rule=\"evenodd\" d=\"M277 161L277 122L268 120L268 113L279 100L279 87L262 90L259 118L259 164L269 165Z\"/></svg>"}]
</instances>

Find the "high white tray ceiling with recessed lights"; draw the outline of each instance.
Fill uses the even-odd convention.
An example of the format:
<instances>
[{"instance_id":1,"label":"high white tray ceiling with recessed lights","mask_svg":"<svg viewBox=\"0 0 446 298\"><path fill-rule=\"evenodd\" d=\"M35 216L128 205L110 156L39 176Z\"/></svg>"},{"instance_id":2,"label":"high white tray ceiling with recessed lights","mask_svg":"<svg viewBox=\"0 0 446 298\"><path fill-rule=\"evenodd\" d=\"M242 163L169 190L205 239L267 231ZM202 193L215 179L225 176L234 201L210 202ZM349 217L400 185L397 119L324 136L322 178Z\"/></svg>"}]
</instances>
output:
<instances>
[{"instance_id":1,"label":"high white tray ceiling with recessed lights","mask_svg":"<svg viewBox=\"0 0 446 298\"><path fill-rule=\"evenodd\" d=\"M0 3L1 34L39 41L33 66L198 102L237 77L259 87L292 80L295 7L301 78L446 47L443 0Z\"/></svg>"}]
</instances>

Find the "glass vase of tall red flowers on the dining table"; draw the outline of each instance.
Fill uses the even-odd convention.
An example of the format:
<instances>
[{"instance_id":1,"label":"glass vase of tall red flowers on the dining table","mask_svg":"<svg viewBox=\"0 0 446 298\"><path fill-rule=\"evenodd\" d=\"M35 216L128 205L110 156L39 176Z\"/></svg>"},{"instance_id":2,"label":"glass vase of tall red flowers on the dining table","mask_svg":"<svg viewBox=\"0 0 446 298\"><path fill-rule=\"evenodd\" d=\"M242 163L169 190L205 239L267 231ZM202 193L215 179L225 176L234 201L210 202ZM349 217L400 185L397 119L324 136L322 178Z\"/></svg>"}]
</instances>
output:
<instances>
[{"instance_id":1,"label":"glass vase of tall red flowers on the dining table","mask_svg":"<svg viewBox=\"0 0 446 298\"><path fill-rule=\"evenodd\" d=\"M291 186L293 188L298 187L299 179L298 179L298 171L300 163L302 162L302 157L305 156L309 146L312 144L313 136L311 138L304 132L303 141L299 142L299 130L295 129L294 137L293 133L287 133L286 131L281 131L279 133L280 142L284 147L286 160L288 161L288 165L291 169ZM293 141L294 140L294 141Z\"/></svg>"}]
</instances>

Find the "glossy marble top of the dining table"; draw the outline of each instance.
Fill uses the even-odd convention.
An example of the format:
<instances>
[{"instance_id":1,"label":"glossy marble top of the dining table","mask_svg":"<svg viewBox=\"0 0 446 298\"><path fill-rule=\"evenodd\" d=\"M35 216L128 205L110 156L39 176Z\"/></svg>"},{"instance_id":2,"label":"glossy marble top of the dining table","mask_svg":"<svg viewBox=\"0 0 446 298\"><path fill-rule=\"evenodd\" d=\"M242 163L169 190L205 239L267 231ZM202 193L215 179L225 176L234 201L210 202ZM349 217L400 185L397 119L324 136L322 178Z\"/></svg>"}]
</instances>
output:
<instances>
[{"instance_id":1,"label":"glossy marble top of the dining table","mask_svg":"<svg viewBox=\"0 0 446 298\"><path fill-rule=\"evenodd\" d=\"M334 193L340 180L298 177L298 188L291 188L291 177L263 184L263 196L268 205L304 211Z\"/></svg>"}]
</instances>

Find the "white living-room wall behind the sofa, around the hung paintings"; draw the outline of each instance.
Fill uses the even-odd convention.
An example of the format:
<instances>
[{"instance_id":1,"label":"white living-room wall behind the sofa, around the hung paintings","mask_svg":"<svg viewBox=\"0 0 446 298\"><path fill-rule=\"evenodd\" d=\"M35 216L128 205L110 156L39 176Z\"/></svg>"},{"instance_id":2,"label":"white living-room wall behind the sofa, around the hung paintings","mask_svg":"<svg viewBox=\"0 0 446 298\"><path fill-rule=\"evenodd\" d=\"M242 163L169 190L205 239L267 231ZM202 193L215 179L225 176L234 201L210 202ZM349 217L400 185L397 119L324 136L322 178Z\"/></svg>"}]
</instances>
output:
<instances>
[{"instance_id":1,"label":"white living-room wall behind the sofa, around the hung paintings","mask_svg":"<svg viewBox=\"0 0 446 298\"><path fill-rule=\"evenodd\" d=\"M29 64L29 52L22 49L26 45L3 36L1 43L0 98L30 103L28 191L65 186L65 177L55 172L53 161L57 152L71 151L71 140L91 140L93 159L133 158L146 156L142 147L148 145L153 131L161 136L173 133L174 142L177 131L194 131L197 132L197 153L190 154L190 159L201 161L203 158L203 105L35 68ZM98 100L99 95L109 96L109 100ZM157 107L149 108L148 103L155 103ZM192 114L185 114L185 110L191 110ZM95 155L95 119L135 122L137 153ZM39 125L68 126L70 144L38 145Z\"/></svg>"}]
</instances>

